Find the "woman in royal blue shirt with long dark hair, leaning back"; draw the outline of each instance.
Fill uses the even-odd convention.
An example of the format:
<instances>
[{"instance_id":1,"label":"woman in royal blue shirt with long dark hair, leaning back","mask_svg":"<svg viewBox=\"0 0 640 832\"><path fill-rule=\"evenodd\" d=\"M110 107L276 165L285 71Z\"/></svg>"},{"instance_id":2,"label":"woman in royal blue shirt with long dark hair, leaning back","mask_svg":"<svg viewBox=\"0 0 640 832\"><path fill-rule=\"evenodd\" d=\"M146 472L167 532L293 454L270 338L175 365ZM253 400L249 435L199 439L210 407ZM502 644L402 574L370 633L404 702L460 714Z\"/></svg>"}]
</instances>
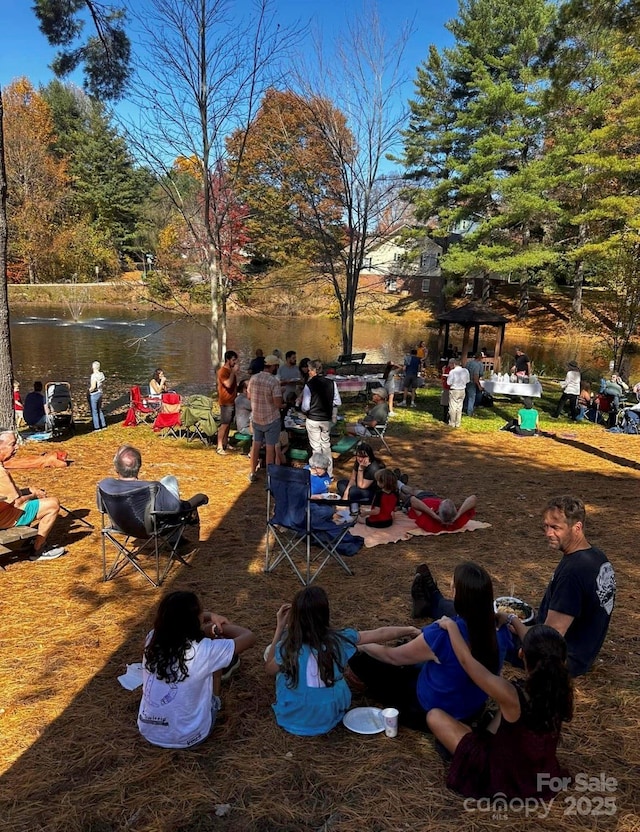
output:
<instances>
[{"instance_id":1,"label":"woman in royal blue shirt with long dark hair, leaning back","mask_svg":"<svg viewBox=\"0 0 640 832\"><path fill-rule=\"evenodd\" d=\"M491 673L499 673L511 635L504 625L496 628L489 574L476 563L460 563L453 573L453 591L454 620L471 654ZM418 730L426 730L426 715L432 708L442 708L456 719L470 719L487 700L437 623L424 627L407 644L368 644L349 667L354 684L359 681L373 698L398 708L400 722Z\"/></svg>"}]
</instances>

